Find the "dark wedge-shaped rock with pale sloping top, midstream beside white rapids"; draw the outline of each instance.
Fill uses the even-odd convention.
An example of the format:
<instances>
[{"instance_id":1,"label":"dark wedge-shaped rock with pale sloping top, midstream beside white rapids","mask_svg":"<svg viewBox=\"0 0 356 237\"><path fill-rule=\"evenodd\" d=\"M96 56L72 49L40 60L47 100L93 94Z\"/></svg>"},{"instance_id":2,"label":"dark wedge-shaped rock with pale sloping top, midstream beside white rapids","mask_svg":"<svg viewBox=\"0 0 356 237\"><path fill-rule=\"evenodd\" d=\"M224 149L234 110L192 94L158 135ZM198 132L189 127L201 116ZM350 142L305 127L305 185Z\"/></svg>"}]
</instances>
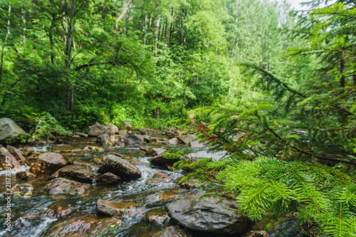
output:
<instances>
[{"instance_id":1,"label":"dark wedge-shaped rock with pale sloping top, midstream beside white rapids","mask_svg":"<svg viewBox=\"0 0 356 237\"><path fill-rule=\"evenodd\" d=\"M98 170L99 173L111 172L120 178L134 179L141 177L141 171L130 162L109 154Z\"/></svg>"}]
</instances>

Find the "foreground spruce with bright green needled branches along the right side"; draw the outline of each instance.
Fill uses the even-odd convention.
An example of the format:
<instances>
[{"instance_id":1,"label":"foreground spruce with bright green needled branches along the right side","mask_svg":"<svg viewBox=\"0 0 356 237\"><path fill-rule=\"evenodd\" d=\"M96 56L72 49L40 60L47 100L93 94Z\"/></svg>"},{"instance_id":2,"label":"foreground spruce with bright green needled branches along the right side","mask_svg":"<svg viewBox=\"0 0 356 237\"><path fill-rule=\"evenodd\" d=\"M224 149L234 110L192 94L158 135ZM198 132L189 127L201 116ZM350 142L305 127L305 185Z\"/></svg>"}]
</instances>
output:
<instances>
[{"instance_id":1,"label":"foreground spruce with bright green needled branches along the right side","mask_svg":"<svg viewBox=\"0 0 356 237\"><path fill-rule=\"evenodd\" d=\"M194 122L200 138L227 156L180 154L184 179L206 181L204 196L236 199L252 219L293 217L305 236L355 236L355 15L343 3L310 11L313 27L281 60L286 71L240 63L260 93L199 110L214 120Z\"/></svg>"}]
</instances>

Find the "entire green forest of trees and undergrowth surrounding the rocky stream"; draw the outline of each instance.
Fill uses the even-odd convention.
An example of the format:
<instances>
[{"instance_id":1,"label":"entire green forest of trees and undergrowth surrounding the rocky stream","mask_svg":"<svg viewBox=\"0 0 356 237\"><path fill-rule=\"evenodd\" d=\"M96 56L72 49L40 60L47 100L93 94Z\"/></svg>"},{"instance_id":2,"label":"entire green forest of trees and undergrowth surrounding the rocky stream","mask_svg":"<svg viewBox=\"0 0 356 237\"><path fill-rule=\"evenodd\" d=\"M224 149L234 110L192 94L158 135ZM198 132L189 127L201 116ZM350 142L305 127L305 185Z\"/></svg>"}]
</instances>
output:
<instances>
[{"instance_id":1,"label":"entire green forest of trees and undergrowth surrounding the rocky stream","mask_svg":"<svg viewBox=\"0 0 356 237\"><path fill-rule=\"evenodd\" d=\"M199 181L201 199L232 201L235 215L249 221L267 218L266 233L251 237L356 236L356 1L303 6L308 10L294 11L286 0L2 0L0 118L26 133L0 144L20 152L41 141L66 144L63 137L90 135L98 123L102 130L115 125L120 136L157 130L189 145L182 136L194 134L204 150L224 157L193 159L185 147L164 147L170 152L159 162L170 160L169 172L184 174L182 182ZM113 151L108 139L100 142L106 153ZM33 151L40 157L44 147ZM105 160L100 164L99 173ZM142 175L152 172L145 169ZM38 236L58 236L62 223L50 222ZM122 226L101 234L144 236ZM193 230L188 236L206 231L184 227ZM17 231L13 236L24 234ZM219 231L211 232L236 234Z\"/></svg>"}]
</instances>

